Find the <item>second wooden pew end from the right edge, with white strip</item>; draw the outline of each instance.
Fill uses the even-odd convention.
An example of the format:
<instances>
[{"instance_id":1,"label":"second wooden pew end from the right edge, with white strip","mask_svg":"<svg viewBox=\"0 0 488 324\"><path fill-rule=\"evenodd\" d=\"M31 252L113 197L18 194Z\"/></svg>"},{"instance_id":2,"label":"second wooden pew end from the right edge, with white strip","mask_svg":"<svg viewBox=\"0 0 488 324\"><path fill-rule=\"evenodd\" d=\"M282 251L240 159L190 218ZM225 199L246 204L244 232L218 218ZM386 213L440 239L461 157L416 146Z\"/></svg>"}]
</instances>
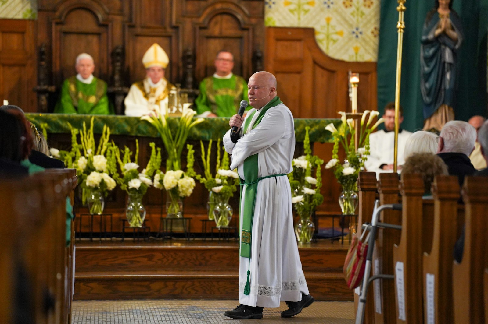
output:
<instances>
[{"instance_id":1,"label":"second wooden pew end from the right edge, with white strip","mask_svg":"<svg viewBox=\"0 0 488 324\"><path fill-rule=\"evenodd\" d=\"M456 241L459 200L457 176L438 175L432 184L434 196L433 234L430 251L423 256L425 323L453 323L452 247ZM424 247L425 249L426 247Z\"/></svg>"}]
</instances>

